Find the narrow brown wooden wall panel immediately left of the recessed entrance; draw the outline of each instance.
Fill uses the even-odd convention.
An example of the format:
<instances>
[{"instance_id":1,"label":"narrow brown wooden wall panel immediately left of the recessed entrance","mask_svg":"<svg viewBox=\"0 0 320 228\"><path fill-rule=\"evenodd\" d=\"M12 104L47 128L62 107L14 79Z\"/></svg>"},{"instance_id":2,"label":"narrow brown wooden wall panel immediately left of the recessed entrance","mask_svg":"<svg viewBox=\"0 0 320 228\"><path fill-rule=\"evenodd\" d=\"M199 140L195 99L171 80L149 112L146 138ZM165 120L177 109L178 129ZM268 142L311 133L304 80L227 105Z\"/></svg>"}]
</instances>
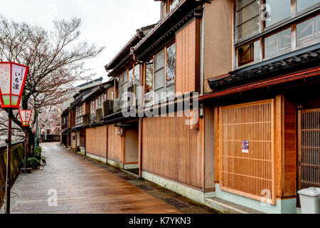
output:
<instances>
[{"instance_id":1,"label":"narrow brown wooden wall panel immediately left of the recessed entrance","mask_svg":"<svg viewBox=\"0 0 320 228\"><path fill-rule=\"evenodd\" d=\"M122 136L114 135L114 125L108 125L108 159L123 162Z\"/></svg>"}]
</instances>

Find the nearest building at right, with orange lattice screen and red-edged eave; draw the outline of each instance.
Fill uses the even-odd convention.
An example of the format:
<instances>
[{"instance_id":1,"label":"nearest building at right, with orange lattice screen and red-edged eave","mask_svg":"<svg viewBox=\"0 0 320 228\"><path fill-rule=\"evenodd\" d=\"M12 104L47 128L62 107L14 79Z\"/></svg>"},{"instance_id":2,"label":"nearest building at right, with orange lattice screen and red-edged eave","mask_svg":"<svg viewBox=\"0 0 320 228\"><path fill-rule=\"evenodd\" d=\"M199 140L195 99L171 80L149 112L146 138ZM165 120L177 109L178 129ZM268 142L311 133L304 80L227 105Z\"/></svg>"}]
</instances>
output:
<instances>
[{"instance_id":1,"label":"nearest building at right, with orange lattice screen and red-edged eave","mask_svg":"<svg viewBox=\"0 0 320 228\"><path fill-rule=\"evenodd\" d=\"M319 7L319 0L233 1L232 50L220 53L231 64L205 70L199 99L215 109L215 197L296 213L297 191L320 187Z\"/></svg>"}]
</instances>

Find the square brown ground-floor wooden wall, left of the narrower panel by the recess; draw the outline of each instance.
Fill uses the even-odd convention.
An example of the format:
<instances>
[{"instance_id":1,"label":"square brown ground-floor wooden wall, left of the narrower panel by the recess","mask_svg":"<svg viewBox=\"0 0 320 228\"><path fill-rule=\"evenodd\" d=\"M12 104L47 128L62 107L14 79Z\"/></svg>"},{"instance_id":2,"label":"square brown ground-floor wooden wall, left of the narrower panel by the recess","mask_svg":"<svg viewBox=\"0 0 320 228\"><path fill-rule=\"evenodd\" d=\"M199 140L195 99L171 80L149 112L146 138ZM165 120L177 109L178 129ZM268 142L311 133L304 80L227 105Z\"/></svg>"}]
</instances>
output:
<instances>
[{"instance_id":1,"label":"square brown ground-floor wooden wall, left of the narrower panel by the recess","mask_svg":"<svg viewBox=\"0 0 320 228\"><path fill-rule=\"evenodd\" d=\"M85 130L85 151L100 157L107 157L107 126Z\"/></svg>"}]
</instances>

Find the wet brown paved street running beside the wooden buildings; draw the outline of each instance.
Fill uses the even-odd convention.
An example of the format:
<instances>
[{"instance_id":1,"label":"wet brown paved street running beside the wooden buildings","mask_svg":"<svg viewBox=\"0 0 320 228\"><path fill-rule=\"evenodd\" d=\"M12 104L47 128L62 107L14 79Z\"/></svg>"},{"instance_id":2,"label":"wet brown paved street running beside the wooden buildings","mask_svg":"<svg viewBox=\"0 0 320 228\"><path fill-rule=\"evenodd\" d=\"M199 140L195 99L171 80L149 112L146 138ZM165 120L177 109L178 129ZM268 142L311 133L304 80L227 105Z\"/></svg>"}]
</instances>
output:
<instances>
[{"instance_id":1,"label":"wet brown paved street running beside the wooden buildings","mask_svg":"<svg viewBox=\"0 0 320 228\"><path fill-rule=\"evenodd\" d=\"M41 146L47 165L19 175L11 190L11 213L217 213L57 142ZM48 190L58 192L57 206L48 206Z\"/></svg>"}]
</instances>

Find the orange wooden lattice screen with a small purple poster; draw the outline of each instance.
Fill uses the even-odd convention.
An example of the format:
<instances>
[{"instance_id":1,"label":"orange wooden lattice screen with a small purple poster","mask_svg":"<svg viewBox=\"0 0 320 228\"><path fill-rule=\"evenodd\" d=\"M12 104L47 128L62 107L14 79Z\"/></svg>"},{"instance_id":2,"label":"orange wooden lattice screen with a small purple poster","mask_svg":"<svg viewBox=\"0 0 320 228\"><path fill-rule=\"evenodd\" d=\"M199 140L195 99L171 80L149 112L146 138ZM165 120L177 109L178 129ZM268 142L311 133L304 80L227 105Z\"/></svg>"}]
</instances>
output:
<instances>
[{"instance_id":1,"label":"orange wooden lattice screen with a small purple poster","mask_svg":"<svg viewBox=\"0 0 320 228\"><path fill-rule=\"evenodd\" d=\"M221 189L274 204L273 100L220 113Z\"/></svg>"}]
</instances>

